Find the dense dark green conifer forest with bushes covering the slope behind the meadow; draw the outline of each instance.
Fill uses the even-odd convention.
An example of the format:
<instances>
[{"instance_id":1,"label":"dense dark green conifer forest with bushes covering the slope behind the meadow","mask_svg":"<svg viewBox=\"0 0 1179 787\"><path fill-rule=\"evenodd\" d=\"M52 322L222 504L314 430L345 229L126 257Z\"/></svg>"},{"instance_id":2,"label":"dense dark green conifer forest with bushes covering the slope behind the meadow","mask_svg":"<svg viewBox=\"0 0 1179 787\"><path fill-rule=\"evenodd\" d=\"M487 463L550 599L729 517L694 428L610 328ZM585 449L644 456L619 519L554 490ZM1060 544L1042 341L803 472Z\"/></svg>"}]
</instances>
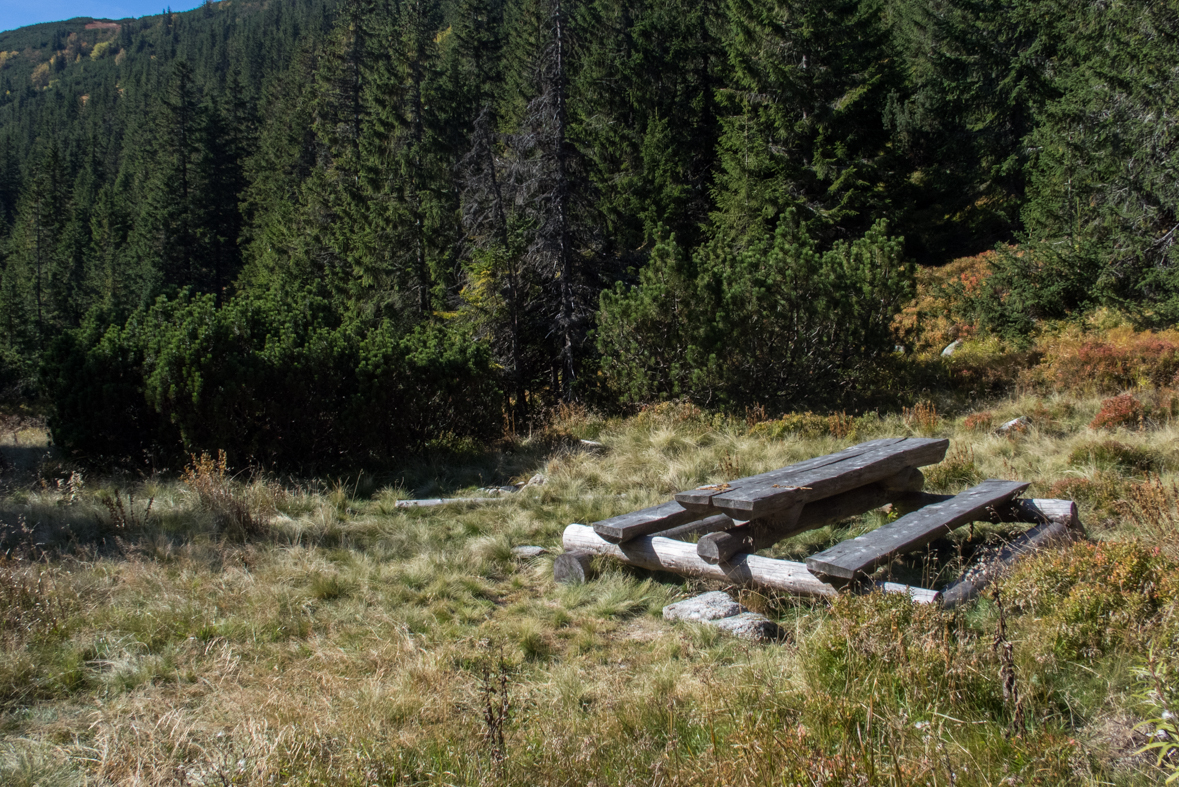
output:
<instances>
[{"instance_id":1,"label":"dense dark green conifer forest with bushes covering the slope behind the meadow","mask_svg":"<svg viewBox=\"0 0 1179 787\"><path fill-rule=\"evenodd\" d=\"M920 266L1179 317L1179 6L222 0L0 34L0 397L152 467L862 410ZM176 465L172 465L176 467Z\"/></svg>"}]
</instances>

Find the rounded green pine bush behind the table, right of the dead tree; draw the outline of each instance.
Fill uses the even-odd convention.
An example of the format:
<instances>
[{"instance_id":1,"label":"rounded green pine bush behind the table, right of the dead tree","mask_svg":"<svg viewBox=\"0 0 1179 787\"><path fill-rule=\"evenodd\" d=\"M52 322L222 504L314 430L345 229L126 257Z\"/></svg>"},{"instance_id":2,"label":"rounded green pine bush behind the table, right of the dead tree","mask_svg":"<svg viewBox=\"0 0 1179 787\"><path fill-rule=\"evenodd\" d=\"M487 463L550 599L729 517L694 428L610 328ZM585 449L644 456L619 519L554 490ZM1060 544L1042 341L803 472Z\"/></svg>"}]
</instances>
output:
<instances>
[{"instance_id":1,"label":"rounded green pine bush behind the table, right of the dead tree","mask_svg":"<svg viewBox=\"0 0 1179 787\"><path fill-rule=\"evenodd\" d=\"M902 240L876 224L819 251L790 212L772 237L694 254L660 243L639 283L601 296L602 370L624 399L830 405L893 349L911 297Z\"/></svg>"}]
</instances>

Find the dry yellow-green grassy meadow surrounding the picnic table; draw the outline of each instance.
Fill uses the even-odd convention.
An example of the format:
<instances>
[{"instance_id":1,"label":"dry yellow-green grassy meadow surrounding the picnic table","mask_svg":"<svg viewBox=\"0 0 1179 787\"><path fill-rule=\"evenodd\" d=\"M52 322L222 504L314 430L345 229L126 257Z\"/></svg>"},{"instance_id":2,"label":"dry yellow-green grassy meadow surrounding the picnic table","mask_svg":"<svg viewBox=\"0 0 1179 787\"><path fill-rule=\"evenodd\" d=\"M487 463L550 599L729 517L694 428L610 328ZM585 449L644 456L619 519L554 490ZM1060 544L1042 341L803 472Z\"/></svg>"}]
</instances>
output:
<instances>
[{"instance_id":1,"label":"dry yellow-green grassy meadow surrounding the picnic table","mask_svg":"<svg viewBox=\"0 0 1179 787\"><path fill-rule=\"evenodd\" d=\"M1099 406L567 412L494 451L314 484L235 480L216 458L180 480L97 480L47 459L35 429L0 435L0 783L1161 782L1167 763L1135 753L1154 727L1135 725L1173 701L1179 428L1094 431ZM1026 430L993 434L1021 415ZM697 582L618 566L552 581L571 522L916 434L953 438L928 488L1032 481L1080 502L1092 542L1026 563L1001 607L956 615L740 590L790 631L780 646L665 623ZM394 505L538 471L544 485L498 503ZM936 586L1005 535L963 529L885 573ZM551 551L516 560L521 544Z\"/></svg>"}]
</instances>

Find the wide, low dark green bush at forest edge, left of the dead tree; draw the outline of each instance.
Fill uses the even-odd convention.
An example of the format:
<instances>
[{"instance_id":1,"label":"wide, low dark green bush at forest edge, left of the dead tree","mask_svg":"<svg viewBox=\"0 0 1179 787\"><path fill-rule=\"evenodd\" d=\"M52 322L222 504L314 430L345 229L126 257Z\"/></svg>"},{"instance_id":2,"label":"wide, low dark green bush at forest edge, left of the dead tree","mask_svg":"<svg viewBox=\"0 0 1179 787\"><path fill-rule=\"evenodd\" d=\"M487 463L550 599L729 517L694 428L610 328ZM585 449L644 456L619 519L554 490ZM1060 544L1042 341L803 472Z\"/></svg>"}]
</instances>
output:
<instances>
[{"instance_id":1,"label":"wide, low dark green bush at forest edge, left of the dead tree","mask_svg":"<svg viewBox=\"0 0 1179 787\"><path fill-rule=\"evenodd\" d=\"M84 456L225 450L236 467L311 470L498 430L489 355L447 325L371 324L303 291L162 298L100 325L47 364L54 439Z\"/></svg>"}]
</instances>

